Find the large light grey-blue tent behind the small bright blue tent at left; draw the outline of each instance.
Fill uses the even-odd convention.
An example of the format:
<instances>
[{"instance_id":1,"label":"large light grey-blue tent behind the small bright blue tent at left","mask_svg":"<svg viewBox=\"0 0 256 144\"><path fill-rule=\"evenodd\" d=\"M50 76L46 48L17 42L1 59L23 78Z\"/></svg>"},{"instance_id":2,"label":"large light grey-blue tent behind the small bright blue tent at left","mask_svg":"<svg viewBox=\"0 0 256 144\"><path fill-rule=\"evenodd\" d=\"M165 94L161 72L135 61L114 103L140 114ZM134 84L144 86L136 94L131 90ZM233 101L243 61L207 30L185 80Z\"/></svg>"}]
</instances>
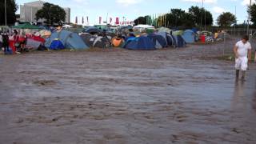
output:
<instances>
[{"instance_id":1,"label":"large light grey-blue tent behind the small bright blue tent at left","mask_svg":"<svg viewBox=\"0 0 256 144\"><path fill-rule=\"evenodd\" d=\"M68 49L82 50L89 48L78 34L67 30L61 30L60 32L51 34L50 38L46 40L46 47L50 48L50 44L56 39L60 40L63 46Z\"/></svg>"}]
</instances>

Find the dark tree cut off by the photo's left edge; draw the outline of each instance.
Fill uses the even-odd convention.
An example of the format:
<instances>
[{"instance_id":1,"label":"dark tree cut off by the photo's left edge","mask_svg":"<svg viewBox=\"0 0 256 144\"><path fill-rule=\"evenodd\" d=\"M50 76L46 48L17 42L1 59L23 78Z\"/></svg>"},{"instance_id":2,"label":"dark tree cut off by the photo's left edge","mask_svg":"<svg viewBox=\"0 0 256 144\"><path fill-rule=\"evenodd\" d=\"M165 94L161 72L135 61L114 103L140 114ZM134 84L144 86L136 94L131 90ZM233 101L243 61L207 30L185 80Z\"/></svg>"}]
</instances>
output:
<instances>
[{"instance_id":1,"label":"dark tree cut off by the photo's left edge","mask_svg":"<svg viewBox=\"0 0 256 144\"><path fill-rule=\"evenodd\" d=\"M14 24L16 22L15 12L18 10L18 6L15 0L6 0L6 15L5 17L5 1L0 1L0 25L5 25L6 20L8 25Z\"/></svg>"}]
</instances>

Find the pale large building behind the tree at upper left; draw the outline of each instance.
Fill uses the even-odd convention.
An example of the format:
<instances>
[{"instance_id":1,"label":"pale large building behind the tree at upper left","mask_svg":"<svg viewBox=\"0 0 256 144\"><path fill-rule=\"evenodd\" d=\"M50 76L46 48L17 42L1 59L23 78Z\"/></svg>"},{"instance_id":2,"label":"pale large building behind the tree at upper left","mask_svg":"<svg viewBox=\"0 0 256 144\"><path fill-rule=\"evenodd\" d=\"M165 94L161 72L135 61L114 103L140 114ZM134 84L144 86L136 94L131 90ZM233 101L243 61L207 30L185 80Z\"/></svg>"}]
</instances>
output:
<instances>
[{"instance_id":1,"label":"pale large building behind the tree at upper left","mask_svg":"<svg viewBox=\"0 0 256 144\"><path fill-rule=\"evenodd\" d=\"M45 2L39 0L35 2L24 3L20 6L20 21L21 22L37 22L35 14L42 9ZM62 7L63 8L63 7ZM70 8L63 8L66 12L66 23L70 23ZM39 20L38 22L42 22Z\"/></svg>"}]
</instances>

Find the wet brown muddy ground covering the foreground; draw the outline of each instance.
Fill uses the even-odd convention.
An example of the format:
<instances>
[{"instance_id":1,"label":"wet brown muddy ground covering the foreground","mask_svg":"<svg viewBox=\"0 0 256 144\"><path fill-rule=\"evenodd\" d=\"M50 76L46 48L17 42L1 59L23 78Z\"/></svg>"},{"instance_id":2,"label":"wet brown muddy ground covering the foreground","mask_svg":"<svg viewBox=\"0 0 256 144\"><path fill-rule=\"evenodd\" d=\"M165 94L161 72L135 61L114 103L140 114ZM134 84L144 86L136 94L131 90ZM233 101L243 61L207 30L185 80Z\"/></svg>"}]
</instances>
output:
<instances>
[{"instance_id":1,"label":"wet brown muddy ground covering the foreground","mask_svg":"<svg viewBox=\"0 0 256 144\"><path fill-rule=\"evenodd\" d=\"M256 64L221 48L0 55L0 143L255 144Z\"/></svg>"}]
</instances>

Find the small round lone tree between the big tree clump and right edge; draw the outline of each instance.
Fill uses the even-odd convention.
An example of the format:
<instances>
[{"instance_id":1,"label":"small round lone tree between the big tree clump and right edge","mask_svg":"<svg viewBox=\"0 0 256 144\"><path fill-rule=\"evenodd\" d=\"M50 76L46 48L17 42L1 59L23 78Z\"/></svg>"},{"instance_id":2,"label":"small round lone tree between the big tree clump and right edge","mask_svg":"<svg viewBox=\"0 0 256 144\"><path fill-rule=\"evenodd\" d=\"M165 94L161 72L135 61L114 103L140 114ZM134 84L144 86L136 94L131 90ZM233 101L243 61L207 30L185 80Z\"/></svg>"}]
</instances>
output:
<instances>
[{"instance_id":1,"label":"small round lone tree between the big tree clump and right edge","mask_svg":"<svg viewBox=\"0 0 256 144\"><path fill-rule=\"evenodd\" d=\"M237 18L234 16L234 14L231 14L230 12L224 12L220 14L217 18L218 26L221 26L223 28L230 27L236 21Z\"/></svg>"}]
</instances>

